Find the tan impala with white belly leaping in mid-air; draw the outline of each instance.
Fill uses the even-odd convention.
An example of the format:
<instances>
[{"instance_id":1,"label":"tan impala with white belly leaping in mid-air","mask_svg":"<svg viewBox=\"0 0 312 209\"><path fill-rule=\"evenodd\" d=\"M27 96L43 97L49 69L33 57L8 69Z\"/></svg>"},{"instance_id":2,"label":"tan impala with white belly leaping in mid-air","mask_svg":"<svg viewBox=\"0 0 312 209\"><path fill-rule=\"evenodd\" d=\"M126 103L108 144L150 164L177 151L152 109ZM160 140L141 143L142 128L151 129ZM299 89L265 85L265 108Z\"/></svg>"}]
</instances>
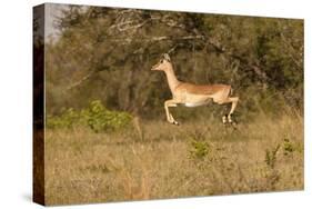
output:
<instances>
[{"instance_id":1,"label":"tan impala with white belly leaping in mid-air","mask_svg":"<svg viewBox=\"0 0 312 209\"><path fill-rule=\"evenodd\" d=\"M188 82L181 82L177 79L173 67L168 53L164 53L161 60L152 67L151 70L163 71L167 76L168 84L172 93L172 99L164 102L164 110L167 120L172 125L179 122L174 120L169 111L169 107L177 107L178 104L184 104L185 107L198 107L209 103L210 100L219 104L232 103L229 115L222 117L222 122L232 123L231 115L234 112L239 97L230 97L232 91L229 84L192 84Z\"/></svg>"}]
</instances>

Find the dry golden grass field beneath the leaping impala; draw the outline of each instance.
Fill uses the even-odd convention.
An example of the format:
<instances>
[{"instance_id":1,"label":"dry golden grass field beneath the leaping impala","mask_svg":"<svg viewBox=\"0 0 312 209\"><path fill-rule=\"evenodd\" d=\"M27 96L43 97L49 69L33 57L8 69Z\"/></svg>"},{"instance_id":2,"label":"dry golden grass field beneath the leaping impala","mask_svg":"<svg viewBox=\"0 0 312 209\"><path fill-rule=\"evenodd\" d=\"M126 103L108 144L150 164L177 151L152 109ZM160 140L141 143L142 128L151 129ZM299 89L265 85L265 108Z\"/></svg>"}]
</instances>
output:
<instances>
[{"instance_id":1,"label":"dry golden grass field beneath the leaping impala","mask_svg":"<svg viewBox=\"0 0 312 209\"><path fill-rule=\"evenodd\" d=\"M303 118L46 131L48 205L303 189Z\"/></svg>"}]
</instances>

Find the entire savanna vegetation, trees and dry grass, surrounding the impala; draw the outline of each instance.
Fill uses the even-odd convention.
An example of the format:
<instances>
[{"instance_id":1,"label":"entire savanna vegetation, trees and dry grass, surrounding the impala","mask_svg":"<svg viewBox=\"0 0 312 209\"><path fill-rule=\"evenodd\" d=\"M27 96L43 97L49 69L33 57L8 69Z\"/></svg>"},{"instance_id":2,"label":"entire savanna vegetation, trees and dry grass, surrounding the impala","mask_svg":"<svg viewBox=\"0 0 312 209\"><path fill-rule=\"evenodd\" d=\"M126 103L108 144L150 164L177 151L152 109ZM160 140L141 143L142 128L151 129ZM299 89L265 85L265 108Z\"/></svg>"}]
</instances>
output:
<instances>
[{"instance_id":1,"label":"entire savanna vegetation, trees and dry grass, surrounding the impala","mask_svg":"<svg viewBox=\"0 0 312 209\"><path fill-rule=\"evenodd\" d=\"M303 189L302 20L60 9L44 43L47 203ZM233 87L235 129L213 103L165 121L170 90L150 70L164 52L180 80Z\"/></svg>"}]
</instances>

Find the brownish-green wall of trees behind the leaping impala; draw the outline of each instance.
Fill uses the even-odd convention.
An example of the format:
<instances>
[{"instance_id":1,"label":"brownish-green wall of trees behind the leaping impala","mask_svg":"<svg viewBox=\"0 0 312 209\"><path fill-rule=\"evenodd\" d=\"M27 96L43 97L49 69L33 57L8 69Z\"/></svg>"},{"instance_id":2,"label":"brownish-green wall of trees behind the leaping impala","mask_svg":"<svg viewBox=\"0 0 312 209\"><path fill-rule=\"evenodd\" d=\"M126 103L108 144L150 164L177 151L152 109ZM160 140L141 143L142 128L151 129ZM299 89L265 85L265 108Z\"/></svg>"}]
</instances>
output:
<instances>
[{"instance_id":1,"label":"brownish-green wall of trees behind the leaping impala","mask_svg":"<svg viewBox=\"0 0 312 209\"><path fill-rule=\"evenodd\" d=\"M158 117L171 96L150 69L164 52L181 80L232 84L241 113L302 111L302 20L71 6L57 27L47 43L48 113L100 99Z\"/></svg>"}]
</instances>

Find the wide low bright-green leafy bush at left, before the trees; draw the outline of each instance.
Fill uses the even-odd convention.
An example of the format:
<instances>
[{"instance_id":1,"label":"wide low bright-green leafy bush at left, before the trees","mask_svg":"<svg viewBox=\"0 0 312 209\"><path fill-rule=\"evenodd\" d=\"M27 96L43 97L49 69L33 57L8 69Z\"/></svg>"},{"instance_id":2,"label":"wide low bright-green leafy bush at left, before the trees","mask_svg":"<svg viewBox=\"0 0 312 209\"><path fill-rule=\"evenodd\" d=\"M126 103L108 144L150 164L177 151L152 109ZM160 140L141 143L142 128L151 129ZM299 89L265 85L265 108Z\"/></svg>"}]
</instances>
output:
<instances>
[{"instance_id":1,"label":"wide low bright-green leafy bush at left, before the trees","mask_svg":"<svg viewBox=\"0 0 312 209\"><path fill-rule=\"evenodd\" d=\"M70 108L60 116L48 116L47 128L71 129L74 126L87 126L94 132L114 131L128 127L131 120L130 113L108 110L101 101L95 100L81 111Z\"/></svg>"}]
</instances>

